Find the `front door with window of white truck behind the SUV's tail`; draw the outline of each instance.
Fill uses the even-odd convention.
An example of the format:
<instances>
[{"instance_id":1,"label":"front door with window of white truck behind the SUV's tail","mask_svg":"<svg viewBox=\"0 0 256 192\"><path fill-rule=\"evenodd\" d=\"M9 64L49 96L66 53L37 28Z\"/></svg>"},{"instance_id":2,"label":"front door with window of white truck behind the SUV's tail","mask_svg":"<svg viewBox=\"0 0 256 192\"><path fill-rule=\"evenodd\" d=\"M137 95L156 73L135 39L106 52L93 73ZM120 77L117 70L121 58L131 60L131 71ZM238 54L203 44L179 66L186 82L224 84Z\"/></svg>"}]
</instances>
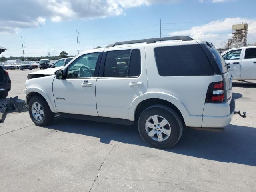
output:
<instances>
[{"instance_id":1,"label":"front door with window of white truck behind the SUV's tail","mask_svg":"<svg viewBox=\"0 0 256 192\"><path fill-rule=\"evenodd\" d=\"M231 50L223 55L224 60L230 66L233 78L241 77L241 52L242 49Z\"/></svg>"}]
</instances>

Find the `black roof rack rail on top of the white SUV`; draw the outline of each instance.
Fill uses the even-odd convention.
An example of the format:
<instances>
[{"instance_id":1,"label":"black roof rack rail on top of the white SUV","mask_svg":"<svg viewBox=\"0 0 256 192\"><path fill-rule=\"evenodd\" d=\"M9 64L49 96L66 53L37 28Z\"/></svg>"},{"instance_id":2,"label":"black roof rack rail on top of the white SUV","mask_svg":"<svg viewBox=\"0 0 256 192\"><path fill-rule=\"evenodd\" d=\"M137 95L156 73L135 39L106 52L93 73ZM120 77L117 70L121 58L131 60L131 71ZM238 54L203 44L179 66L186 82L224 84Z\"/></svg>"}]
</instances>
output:
<instances>
[{"instance_id":1,"label":"black roof rack rail on top of the white SUV","mask_svg":"<svg viewBox=\"0 0 256 192\"><path fill-rule=\"evenodd\" d=\"M162 38L152 38L152 39L141 39L141 40L133 40L133 41L121 41L109 44L107 47L114 47L116 45L125 45L125 44L134 44L134 43L155 43L157 41L172 41L172 40L182 40L182 41L192 41L189 36L175 36L175 37L162 37Z\"/></svg>"}]
</instances>

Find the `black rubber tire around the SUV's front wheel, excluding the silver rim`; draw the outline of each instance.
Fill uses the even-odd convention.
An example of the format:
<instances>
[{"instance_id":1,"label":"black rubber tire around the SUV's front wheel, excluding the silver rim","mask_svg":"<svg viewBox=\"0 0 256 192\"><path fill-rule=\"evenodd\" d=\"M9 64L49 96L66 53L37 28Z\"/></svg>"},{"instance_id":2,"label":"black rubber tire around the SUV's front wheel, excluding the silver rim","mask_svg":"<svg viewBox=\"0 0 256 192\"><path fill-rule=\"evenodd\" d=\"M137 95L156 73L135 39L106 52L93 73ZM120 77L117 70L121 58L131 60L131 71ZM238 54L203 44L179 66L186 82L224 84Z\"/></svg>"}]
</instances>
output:
<instances>
[{"instance_id":1,"label":"black rubber tire around the SUV's front wheel, excluding the silver rim","mask_svg":"<svg viewBox=\"0 0 256 192\"><path fill-rule=\"evenodd\" d=\"M42 106L42 109L44 110L44 116L42 117L42 120L38 121L36 120L32 115L32 105L37 102ZM52 123L54 119L54 113L50 110L50 107L48 106L47 102L40 96L33 96L28 104L28 112L30 115L31 120L36 124L37 126L48 126Z\"/></svg>"}]
</instances>

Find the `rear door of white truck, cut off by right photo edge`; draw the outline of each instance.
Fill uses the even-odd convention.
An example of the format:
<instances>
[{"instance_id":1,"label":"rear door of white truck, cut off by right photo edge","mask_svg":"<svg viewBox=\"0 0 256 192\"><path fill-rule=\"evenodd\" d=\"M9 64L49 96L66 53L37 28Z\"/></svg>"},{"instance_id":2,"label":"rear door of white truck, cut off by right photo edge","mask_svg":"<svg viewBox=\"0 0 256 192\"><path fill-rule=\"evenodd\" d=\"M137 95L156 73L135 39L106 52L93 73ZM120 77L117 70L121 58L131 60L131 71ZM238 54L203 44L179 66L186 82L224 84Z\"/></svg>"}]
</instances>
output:
<instances>
[{"instance_id":1,"label":"rear door of white truck, cut off by right photo edge","mask_svg":"<svg viewBox=\"0 0 256 192\"><path fill-rule=\"evenodd\" d=\"M245 48L241 78L256 78L256 48Z\"/></svg>"}]
</instances>

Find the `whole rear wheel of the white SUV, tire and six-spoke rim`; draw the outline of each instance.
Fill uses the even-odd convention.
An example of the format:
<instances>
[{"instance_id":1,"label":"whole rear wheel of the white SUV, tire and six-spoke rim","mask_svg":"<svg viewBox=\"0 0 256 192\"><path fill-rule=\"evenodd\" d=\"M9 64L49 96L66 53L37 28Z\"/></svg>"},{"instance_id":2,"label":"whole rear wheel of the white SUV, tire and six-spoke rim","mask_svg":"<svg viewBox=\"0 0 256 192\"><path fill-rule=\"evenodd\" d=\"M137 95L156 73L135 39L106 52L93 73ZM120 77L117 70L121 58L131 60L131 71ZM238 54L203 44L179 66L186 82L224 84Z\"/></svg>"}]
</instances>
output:
<instances>
[{"instance_id":1,"label":"whole rear wheel of the white SUV, tire and six-spoke rim","mask_svg":"<svg viewBox=\"0 0 256 192\"><path fill-rule=\"evenodd\" d=\"M150 106L142 112L138 129L142 139L156 148L171 148L182 136L183 123L172 108L164 105Z\"/></svg>"}]
</instances>

